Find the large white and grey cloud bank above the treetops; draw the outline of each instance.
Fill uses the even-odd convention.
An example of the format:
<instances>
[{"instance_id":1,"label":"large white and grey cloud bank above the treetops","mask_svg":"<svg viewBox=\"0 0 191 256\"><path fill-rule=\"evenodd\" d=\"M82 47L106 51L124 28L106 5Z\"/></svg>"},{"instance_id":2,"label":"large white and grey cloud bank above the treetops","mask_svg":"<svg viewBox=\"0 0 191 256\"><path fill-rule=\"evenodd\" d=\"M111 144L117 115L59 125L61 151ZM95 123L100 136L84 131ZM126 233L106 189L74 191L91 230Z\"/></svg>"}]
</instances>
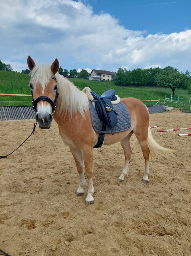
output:
<instances>
[{"instance_id":1,"label":"large white and grey cloud bank above the treetops","mask_svg":"<svg viewBox=\"0 0 191 256\"><path fill-rule=\"evenodd\" d=\"M108 13L72 0L7 0L0 8L0 58L21 71L30 54L36 63L58 58L66 69L89 67L190 67L191 30L149 34L119 24ZM5 61L4 61L5 62ZM17 64L18 63L18 64Z\"/></svg>"}]
</instances>

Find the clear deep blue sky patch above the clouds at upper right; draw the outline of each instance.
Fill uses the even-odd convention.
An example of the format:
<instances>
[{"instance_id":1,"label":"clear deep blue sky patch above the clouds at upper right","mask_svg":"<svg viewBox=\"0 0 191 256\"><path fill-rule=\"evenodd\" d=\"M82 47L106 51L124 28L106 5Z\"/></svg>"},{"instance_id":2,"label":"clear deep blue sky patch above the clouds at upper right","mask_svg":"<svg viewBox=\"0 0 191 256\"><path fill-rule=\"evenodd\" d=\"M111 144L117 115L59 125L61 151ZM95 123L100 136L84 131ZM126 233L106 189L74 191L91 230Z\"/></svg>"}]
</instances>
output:
<instances>
[{"instance_id":1,"label":"clear deep blue sky patch above the clouds at upper right","mask_svg":"<svg viewBox=\"0 0 191 256\"><path fill-rule=\"evenodd\" d=\"M95 13L110 13L131 30L173 33L191 28L189 0L90 0Z\"/></svg>"}]
</instances>

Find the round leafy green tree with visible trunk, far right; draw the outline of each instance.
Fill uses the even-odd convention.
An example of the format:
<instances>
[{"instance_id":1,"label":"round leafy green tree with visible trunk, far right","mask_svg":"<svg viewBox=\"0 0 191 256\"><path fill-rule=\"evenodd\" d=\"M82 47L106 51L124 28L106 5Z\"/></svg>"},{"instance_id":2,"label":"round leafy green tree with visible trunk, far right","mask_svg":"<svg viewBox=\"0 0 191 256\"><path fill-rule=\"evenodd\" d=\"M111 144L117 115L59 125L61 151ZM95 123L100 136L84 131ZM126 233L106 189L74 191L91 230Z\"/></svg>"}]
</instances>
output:
<instances>
[{"instance_id":1,"label":"round leafy green tree with visible trunk, far right","mask_svg":"<svg viewBox=\"0 0 191 256\"><path fill-rule=\"evenodd\" d=\"M187 89L189 82L189 72L180 73L177 69L167 66L164 69L160 70L155 76L156 85L162 87L170 87L173 96L175 96L175 89Z\"/></svg>"}]
</instances>

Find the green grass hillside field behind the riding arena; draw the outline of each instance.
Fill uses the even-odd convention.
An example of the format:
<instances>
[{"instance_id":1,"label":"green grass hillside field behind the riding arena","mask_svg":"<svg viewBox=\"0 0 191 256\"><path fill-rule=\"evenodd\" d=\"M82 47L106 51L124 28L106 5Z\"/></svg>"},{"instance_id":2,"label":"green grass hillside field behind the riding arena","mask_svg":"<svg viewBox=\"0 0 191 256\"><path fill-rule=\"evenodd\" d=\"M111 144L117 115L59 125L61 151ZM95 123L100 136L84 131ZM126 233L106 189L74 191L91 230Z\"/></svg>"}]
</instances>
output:
<instances>
[{"instance_id":1,"label":"green grass hillside field behind the riding arena","mask_svg":"<svg viewBox=\"0 0 191 256\"><path fill-rule=\"evenodd\" d=\"M0 71L0 93L30 94L28 86L30 76L17 72ZM83 89L88 86L91 90L102 94L109 89L115 89L120 97L135 97L144 100L159 100L164 102L165 95L171 96L171 89L166 87L148 86L117 86L112 82L95 82L87 79L69 78L78 88ZM191 98L187 91L176 89L175 96L181 98ZM150 104L150 102L147 102ZM0 105L30 106L31 97L25 96L2 96L0 95Z\"/></svg>"}]
</instances>

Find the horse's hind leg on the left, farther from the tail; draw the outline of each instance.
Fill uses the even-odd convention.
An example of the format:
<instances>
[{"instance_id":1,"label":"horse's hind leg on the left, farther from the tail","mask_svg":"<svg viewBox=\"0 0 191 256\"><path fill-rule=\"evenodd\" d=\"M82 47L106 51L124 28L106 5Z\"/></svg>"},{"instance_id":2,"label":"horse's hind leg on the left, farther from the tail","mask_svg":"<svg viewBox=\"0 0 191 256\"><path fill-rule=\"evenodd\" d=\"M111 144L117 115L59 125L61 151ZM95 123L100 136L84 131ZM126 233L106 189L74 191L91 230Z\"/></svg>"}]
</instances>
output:
<instances>
[{"instance_id":1,"label":"horse's hind leg on the left, farther from the tail","mask_svg":"<svg viewBox=\"0 0 191 256\"><path fill-rule=\"evenodd\" d=\"M118 178L118 181L120 181L120 182L125 180L125 176L127 176L128 171L129 171L129 163L130 163L131 154L132 154L132 150L131 150L131 146L130 146L130 138L131 138L132 134L133 134L133 132L130 132L130 134L127 135L127 137L125 137L125 139L122 139L122 141L121 141L121 146L124 150L124 155L125 155L125 164L124 164L122 174Z\"/></svg>"}]
</instances>

